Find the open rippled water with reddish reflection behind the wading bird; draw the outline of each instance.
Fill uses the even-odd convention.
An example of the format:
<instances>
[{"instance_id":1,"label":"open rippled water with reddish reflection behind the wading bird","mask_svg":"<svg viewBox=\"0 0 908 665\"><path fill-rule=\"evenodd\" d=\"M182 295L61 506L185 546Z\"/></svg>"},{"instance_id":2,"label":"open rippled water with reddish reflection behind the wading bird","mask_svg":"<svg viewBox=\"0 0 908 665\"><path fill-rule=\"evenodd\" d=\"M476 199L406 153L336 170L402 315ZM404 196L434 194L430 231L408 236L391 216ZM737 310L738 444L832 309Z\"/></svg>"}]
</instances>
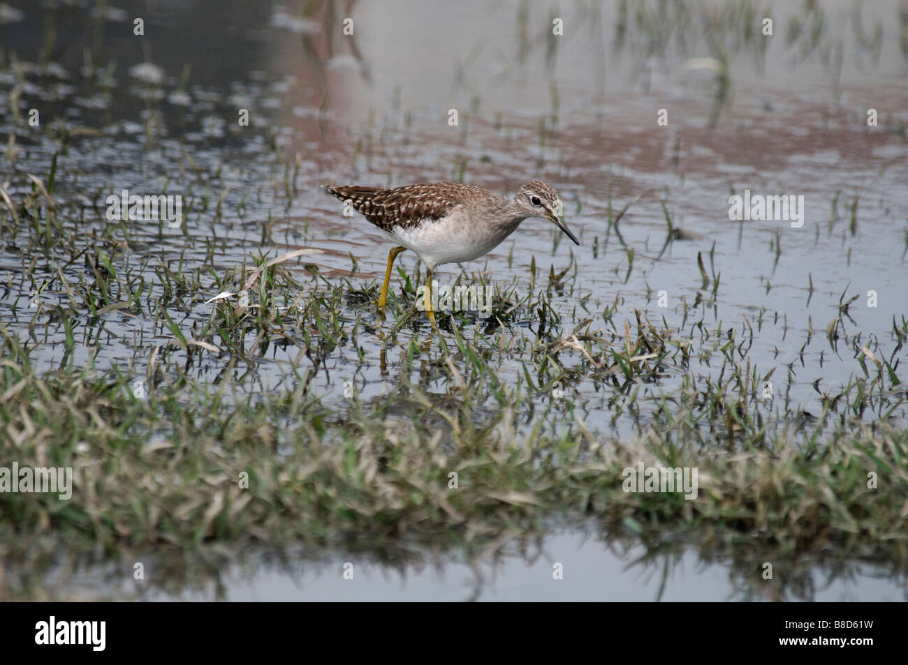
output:
<instances>
[{"instance_id":1,"label":"open rippled water with reddish reflection behind the wading bird","mask_svg":"<svg viewBox=\"0 0 908 665\"><path fill-rule=\"evenodd\" d=\"M342 217L319 185L463 179L513 194L541 177L566 201L580 247L560 241L553 249L557 230L528 220L487 258L462 269L443 266L438 279L514 280L519 288L528 285L533 261L543 274L549 266L571 267L574 288L552 298L566 331L589 316L602 320L616 300L618 329L636 310L677 329L691 308L691 320L739 335L746 320L757 331L747 360L761 374L777 368L780 398L771 413L780 422L820 413L821 396L840 391L860 370L850 348L825 335L843 294L860 298L842 336L873 337L887 357L893 318L908 314L903 3L822 2L806 14L775 3L772 36L760 34L762 15L754 15L754 33L735 38L716 36L732 34L724 28L742 20L718 3L673 8L666 20L656 4L627 12L620 3L567 4L557 15L523 2L464 0L444 10L415 0L363 3L351 14L353 36L342 34L344 16L333 5L313 4L311 14L302 13L305 4L267 2L89 5L55 14L53 39L46 15L31 3L7 3L0 15L0 108L16 98L27 113L40 100L45 122L65 122L72 134L76 149L58 157L65 175L54 192L73 210L64 223L90 233L104 223L93 205L122 189L184 191L196 200L205 194L228 211L196 208L185 232L137 225L127 261L201 263L213 243L216 268L227 270L252 253L316 247L325 252L318 265L328 279L350 275L352 254L358 268L351 279L361 286L380 279L384 243L364 220ZM142 40L132 34L133 16L145 21ZM558 18L564 34L555 36ZM238 109L250 111L249 127L236 122ZM869 109L875 126L867 123ZM449 122L451 110L457 125ZM4 137L10 122L0 116ZM35 132L20 135L16 150L13 159L4 157L5 179L14 169L49 172L56 143ZM290 191L288 160L295 164ZM13 178L10 191L27 186ZM745 190L803 197L803 225L729 220L729 196ZM616 230L608 210L631 201ZM678 235L667 243L662 202ZM270 235L262 241L266 223ZM715 293L702 283L698 254L719 276ZM415 257L400 260L415 279ZM19 275L22 263L14 246L0 248L0 275ZM52 268L39 262L35 270L40 281ZM79 267L65 270L78 279ZM0 316L25 335L30 316L20 300L33 284L13 283L18 288L5 291ZM400 280L392 288L400 289ZM173 315L187 327L203 322L210 313L203 302L214 295L202 286ZM584 298L586 310L578 306ZM526 323L518 334L532 336ZM147 342L157 332L150 322L113 312L100 326L104 345L94 364L143 373ZM63 338L62 325L49 329ZM368 357L379 357L378 341L360 343ZM393 367L400 349L387 352ZM278 367L290 360L284 353L268 354L251 392L287 387ZM76 367L89 364L87 347L75 354ZM43 369L60 362L51 354L37 359ZM343 404L343 380L358 369L355 360L354 350L341 353L334 374L314 384L326 405ZM497 362L498 377L516 382L518 361ZM688 369L697 381L718 371L715 361L696 356ZM356 376L363 400L387 389L377 362ZM642 388L644 420L648 400L681 380ZM595 386L571 389L587 426L618 436L638 431L631 416L612 418L608 396ZM908 415L903 397L889 397L893 417ZM593 559L601 549L577 548ZM419 574L409 579L408 588L421 588ZM269 584L262 581L262 594ZM889 584L871 596L892 595L898 582ZM507 584L498 590L520 597ZM627 594L650 591L631 584ZM709 595L725 591L716 582Z\"/></svg>"}]
</instances>

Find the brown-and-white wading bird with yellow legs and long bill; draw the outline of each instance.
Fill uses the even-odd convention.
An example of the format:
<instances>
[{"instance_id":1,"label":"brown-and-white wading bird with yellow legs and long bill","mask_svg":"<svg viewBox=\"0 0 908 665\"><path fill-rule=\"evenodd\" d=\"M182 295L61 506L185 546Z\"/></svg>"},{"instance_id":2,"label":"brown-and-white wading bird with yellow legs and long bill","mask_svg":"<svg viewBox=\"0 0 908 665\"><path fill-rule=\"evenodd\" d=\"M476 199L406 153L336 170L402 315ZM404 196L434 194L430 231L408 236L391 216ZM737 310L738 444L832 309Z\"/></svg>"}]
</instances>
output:
<instances>
[{"instance_id":1,"label":"brown-and-white wading bird with yellow legs and long bill","mask_svg":"<svg viewBox=\"0 0 908 665\"><path fill-rule=\"evenodd\" d=\"M514 200L459 182L429 182L393 189L340 185L328 193L364 215L394 243L381 285L379 309L388 297L391 266L397 255L412 249L426 264L425 308L432 326L432 272L443 263L479 259L498 247L520 222L530 217L552 221L575 245L579 241L564 222L558 192L548 182L528 181Z\"/></svg>"}]
</instances>

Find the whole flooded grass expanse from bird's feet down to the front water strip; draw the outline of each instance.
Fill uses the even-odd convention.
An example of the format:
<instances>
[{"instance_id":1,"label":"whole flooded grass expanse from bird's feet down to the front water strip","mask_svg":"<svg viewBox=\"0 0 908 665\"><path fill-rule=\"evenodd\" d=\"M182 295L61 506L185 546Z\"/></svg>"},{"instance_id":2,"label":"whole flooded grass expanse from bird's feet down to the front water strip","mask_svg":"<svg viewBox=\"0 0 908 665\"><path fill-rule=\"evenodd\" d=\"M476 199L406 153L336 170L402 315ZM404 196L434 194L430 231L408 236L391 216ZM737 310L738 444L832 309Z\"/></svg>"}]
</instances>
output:
<instances>
[{"instance_id":1,"label":"whole flooded grass expanse from bird's feet down to the front water strip","mask_svg":"<svg viewBox=\"0 0 908 665\"><path fill-rule=\"evenodd\" d=\"M785 317L706 324L719 284L712 250L696 255L702 289L676 328L640 310L619 323L619 297L588 308L575 260L546 271L534 258L527 279L494 283L492 316L439 316L433 334L415 308L419 267L399 269L402 290L382 321L378 283L354 279L355 261L350 277L327 279L303 262L318 259L311 248L232 269L218 269L212 251L138 259L118 225L84 238L48 231L59 206L31 180L10 209L20 219L5 223L29 243L24 260L49 252L49 269L4 286L31 294L14 322L0 322L3 460L72 467L74 491L68 501L0 496L5 596L34 597L27 571L62 543L114 559L254 545L314 558L422 548L481 562L565 524L655 552L695 547L732 562L759 597L804 593L805 558L904 572L908 322L893 318L885 341L849 334L847 289L825 337L854 353L860 373L824 393L817 416L772 387L779 367L750 357L755 330ZM660 205L667 244L673 224ZM565 297L583 310L571 328L552 307ZM119 342L131 358L98 362L118 317L148 328ZM363 336L380 343L380 394ZM499 377L515 357L522 371ZM695 375L692 362L713 369ZM590 384L598 403L579 387ZM601 411L630 429L589 421ZM626 492L624 471L640 463L696 467L696 498ZM802 576L765 581L764 562Z\"/></svg>"}]
</instances>

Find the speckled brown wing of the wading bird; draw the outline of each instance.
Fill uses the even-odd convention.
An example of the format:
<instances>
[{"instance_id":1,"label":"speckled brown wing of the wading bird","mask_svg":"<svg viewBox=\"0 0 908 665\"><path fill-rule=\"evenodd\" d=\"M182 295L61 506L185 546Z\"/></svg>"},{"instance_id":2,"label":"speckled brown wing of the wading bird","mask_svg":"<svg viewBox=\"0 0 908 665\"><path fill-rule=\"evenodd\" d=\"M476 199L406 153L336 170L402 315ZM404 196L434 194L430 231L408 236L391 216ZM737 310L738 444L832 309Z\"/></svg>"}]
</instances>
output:
<instances>
[{"instance_id":1,"label":"speckled brown wing of the wading bird","mask_svg":"<svg viewBox=\"0 0 908 665\"><path fill-rule=\"evenodd\" d=\"M451 210L489 192L459 182L429 182L383 190L360 185L329 187L328 193L350 201L353 210L381 230L413 229L427 220L440 220Z\"/></svg>"}]
</instances>

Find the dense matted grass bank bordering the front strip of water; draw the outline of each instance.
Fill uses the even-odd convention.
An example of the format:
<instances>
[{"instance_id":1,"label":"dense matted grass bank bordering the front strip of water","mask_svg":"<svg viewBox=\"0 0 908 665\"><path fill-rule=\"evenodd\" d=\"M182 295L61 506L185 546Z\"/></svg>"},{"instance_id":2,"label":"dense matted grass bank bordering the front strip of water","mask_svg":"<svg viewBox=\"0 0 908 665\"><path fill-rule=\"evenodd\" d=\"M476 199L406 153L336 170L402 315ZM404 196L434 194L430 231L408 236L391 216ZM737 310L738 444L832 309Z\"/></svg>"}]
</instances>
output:
<instances>
[{"instance_id":1,"label":"dense matted grass bank bordering the front strip of water","mask_svg":"<svg viewBox=\"0 0 908 665\"><path fill-rule=\"evenodd\" d=\"M433 357L451 379L446 394L408 386L350 399L339 412L304 388L249 396L226 382L180 380L138 398L115 373L37 376L25 349L0 333L5 459L74 470L69 501L4 494L7 563L60 543L119 556L210 543L301 545L310 556L422 545L476 560L503 544L502 534L573 523L710 556L750 552L753 570L742 574L755 593L784 596L785 575L759 590L763 562L785 571L809 554L898 571L908 554L908 431L885 422L818 441L809 428L755 435L738 414L733 426L749 435L729 453L696 435L696 420L708 416L681 390L671 401L686 407L666 402L658 422L630 440L589 432L577 411L558 428L518 435L524 406L514 391L499 389L492 413L466 388L473 379L453 358L482 361L459 336L457 352ZM640 462L697 467L696 499L623 491L623 470ZM15 595L15 569L5 582Z\"/></svg>"}]
</instances>

